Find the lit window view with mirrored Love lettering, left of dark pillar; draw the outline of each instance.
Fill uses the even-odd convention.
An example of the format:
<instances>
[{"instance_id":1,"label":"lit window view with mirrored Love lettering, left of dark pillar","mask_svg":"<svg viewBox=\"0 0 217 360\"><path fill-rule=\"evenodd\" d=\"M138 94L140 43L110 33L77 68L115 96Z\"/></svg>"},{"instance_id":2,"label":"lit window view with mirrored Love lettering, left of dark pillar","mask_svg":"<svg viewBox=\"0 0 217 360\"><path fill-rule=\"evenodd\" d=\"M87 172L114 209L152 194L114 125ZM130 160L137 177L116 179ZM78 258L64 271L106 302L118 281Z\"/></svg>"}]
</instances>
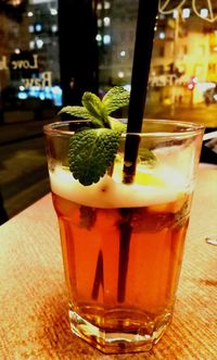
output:
<instances>
[{"instance_id":1,"label":"lit window view with mirrored Love lettering, left of dark pillar","mask_svg":"<svg viewBox=\"0 0 217 360\"><path fill-rule=\"evenodd\" d=\"M55 107L62 104L56 14L56 0L5 1L0 8L0 108L4 123L8 117L10 122L22 121L25 114L28 120L53 116Z\"/></svg>"}]
</instances>

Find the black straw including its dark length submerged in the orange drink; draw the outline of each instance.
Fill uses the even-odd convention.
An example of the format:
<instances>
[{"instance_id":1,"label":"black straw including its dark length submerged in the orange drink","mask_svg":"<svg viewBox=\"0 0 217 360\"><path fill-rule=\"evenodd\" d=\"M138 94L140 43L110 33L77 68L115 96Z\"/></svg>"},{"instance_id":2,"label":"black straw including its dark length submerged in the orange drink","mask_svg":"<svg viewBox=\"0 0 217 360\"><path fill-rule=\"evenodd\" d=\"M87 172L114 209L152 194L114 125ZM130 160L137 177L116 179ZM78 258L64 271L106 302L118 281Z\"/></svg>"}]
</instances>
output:
<instances>
[{"instance_id":1,"label":"black straw including its dark length submerged in the orange drink","mask_svg":"<svg viewBox=\"0 0 217 360\"><path fill-rule=\"evenodd\" d=\"M157 9L158 0L139 1L127 133L140 133L142 128ZM130 184L133 181L139 140L139 136L136 134L127 136L126 138L123 177L123 182L126 184ZM128 221L131 222L130 220ZM124 229L120 227L119 229L117 300L118 302L124 302L132 228L129 223L128 229L126 229L126 227Z\"/></svg>"}]
</instances>

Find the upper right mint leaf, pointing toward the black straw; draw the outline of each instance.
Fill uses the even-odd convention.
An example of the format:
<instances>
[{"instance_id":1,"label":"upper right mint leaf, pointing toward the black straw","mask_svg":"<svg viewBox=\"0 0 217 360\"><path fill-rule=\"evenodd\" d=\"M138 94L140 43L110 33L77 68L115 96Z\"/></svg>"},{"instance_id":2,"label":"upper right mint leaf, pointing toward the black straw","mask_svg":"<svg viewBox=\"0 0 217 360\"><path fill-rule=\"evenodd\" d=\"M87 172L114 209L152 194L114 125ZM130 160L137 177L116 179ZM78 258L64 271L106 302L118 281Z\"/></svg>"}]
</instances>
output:
<instances>
[{"instance_id":1,"label":"upper right mint leaf, pointing toward the black straw","mask_svg":"<svg viewBox=\"0 0 217 360\"><path fill-rule=\"evenodd\" d=\"M129 91L124 87L114 86L110 89L102 99L102 103L106 109L107 115L123 107L128 105L129 103Z\"/></svg>"}]
</instances>

